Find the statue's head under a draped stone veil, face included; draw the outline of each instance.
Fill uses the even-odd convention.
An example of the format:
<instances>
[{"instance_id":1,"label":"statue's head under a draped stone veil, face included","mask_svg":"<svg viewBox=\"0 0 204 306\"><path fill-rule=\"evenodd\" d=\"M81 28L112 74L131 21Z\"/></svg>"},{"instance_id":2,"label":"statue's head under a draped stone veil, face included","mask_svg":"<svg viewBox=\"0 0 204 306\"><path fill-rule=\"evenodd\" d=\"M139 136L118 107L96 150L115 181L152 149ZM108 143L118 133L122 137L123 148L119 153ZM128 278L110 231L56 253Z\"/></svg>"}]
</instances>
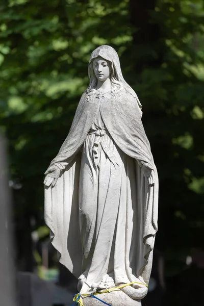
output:
<instances>
[{"instance_id":1,"label":"statue's head under a draped stone veil, face included","mask_svg":"<svg viewBox=\"0 0 204 306\"><path fill-rule=\"evenodd\" d=\"M117 52L111 46L97 47L91 54L88 67L89 88L91 91L97 85L97 81L111 80L112 91L118 90L122 85L122 72Z\"/></svg>"}]
</instances>

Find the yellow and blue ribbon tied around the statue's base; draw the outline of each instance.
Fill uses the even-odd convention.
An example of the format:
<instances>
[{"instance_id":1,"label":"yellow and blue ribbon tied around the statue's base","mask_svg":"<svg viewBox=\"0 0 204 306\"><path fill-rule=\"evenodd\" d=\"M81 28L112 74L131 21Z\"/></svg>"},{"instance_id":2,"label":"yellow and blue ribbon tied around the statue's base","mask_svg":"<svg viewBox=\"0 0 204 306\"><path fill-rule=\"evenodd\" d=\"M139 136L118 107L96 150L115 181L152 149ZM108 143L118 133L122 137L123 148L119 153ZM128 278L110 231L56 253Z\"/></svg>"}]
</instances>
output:
<instances>
[{"instance_id":1,"label":"yellow and blue ribbon tied around the statue's base","mask_svg":"<svg viewBox=\"0 0 204 306\"><path fill-rule=\"evenodd\" d=\"M147 286L146 284L138 283L138 282L132 282L132 283L130 283L130 284L124 284L124 285L121 285L121 286L118 286L118 287L110 288L109 290L105 290L105 291L102 291L102 292L96 292L96 293L94 293L94 294L87 294L87 293L82 293L82 294L80 294L80 293L77 293L77 294L75 294L75 295L73 296L73 301L74 301L75 303L74 303L72 306L76 306L77 304L80 304L81 306L84 306L82 299L83 299L83 297L86 297L86 296L87 296L87 297L96 298L96 299L99 300L100 302L102 302L102 303L104 303L104 304L106 304L106 305L108 305L108 306L112 306L112 305L106 303L105 301L99 299L98 297L96 297L96 295L98 295L98 294L103 294L103 293L108 293L108 292L110 293L111 291L116 291L116 290L118 290L118 289L120 289L120 288L124 288L124 287L126 287L126 286L131 286L131 285L133 285L133 284L144 285L144 286L146 286L146 287L148 288L148 286Z\"/></svg>"}]
</instances>

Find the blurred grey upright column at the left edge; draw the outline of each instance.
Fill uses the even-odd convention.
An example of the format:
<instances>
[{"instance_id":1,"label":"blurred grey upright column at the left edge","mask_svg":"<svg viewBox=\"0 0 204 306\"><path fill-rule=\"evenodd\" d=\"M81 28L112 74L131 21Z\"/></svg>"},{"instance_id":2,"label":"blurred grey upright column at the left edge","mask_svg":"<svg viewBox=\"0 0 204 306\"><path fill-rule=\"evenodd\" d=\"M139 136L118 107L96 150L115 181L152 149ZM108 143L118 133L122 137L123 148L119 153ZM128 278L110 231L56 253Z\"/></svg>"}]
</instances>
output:
<instances>
[{"instance_id":1,"label":"blurred grey upright column at the left edge","mask_svg":"<svg viewBox=\"0 0 204 306\"><path fill-rule=\"evenodd\" d=\"M0 135L0 296L1 305L16 306L16 273L11 226L11 196L6 162L6 141Z\"/></svg>"}]
</instances>

